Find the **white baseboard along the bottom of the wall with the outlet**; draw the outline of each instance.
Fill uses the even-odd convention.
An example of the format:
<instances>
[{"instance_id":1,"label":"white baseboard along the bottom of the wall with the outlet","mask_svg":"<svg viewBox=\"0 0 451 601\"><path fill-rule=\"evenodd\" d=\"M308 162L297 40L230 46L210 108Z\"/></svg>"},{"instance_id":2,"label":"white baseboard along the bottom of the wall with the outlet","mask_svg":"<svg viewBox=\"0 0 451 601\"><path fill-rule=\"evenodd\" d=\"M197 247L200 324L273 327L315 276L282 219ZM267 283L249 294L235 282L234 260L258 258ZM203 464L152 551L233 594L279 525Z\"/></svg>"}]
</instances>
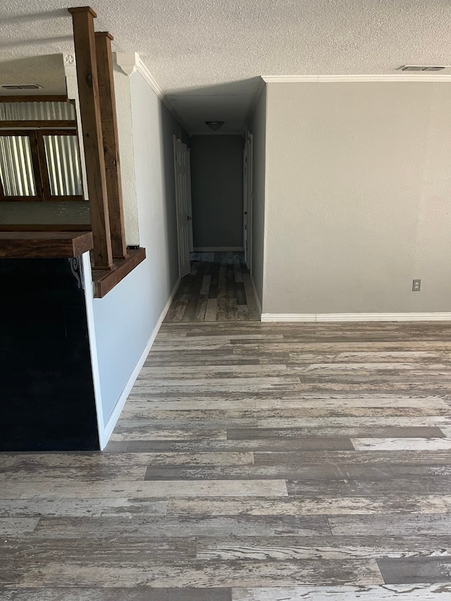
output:
<instances>
[{"instance_id":1,"label":"white baseboard along the bottom of the wall with the outlet","mask_svg":"<svg viewBox=\"0 0 451 601\"><path fill-rule=\"evenodd\" d=\"M264 313L261 321L450 321L451 313Z\"/></svg>"}]
</instances>

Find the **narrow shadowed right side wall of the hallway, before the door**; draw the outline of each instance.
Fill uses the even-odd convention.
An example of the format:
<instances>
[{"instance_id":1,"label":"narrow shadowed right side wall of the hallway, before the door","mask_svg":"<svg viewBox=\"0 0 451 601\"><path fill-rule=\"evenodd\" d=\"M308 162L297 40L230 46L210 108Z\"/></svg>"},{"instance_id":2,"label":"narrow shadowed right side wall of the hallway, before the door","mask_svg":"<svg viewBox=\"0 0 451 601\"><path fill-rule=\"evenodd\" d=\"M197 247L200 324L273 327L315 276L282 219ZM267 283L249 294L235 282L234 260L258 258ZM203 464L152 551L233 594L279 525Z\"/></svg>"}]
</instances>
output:
<instances>
[{"instance_id":1,"label":"narrow shadowed right side wall of the hallway, before the door","mask_svg":"<svg viewBox=\"0 0 451 601\"><path fill-rule=\"evenodd\" d=\"M252 280L261 306L264 302L264 242L266 194L266 87L249 122L253 136L252 187Z\"/></svg>"}]
</instances>

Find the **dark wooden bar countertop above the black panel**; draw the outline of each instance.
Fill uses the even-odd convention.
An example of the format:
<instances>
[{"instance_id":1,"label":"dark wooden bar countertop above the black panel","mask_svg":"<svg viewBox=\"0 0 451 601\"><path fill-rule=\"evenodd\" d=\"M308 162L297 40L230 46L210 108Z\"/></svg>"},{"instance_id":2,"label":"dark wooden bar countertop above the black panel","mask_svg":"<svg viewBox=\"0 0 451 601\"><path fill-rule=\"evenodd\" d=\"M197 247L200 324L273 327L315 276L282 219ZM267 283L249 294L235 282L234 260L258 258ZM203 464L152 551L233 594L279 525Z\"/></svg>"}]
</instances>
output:
<instances>
[{"instance_id":1,"label":"dark wooden bar countertop above the black panel","mask_svg":"<svg viewBox=\"0 0 451 601\"><path fill-rule=\"evenodd\" d=\"M92 232L0 232L2 259L65 259L94 247Z\"/></svg>"}]
</instances>

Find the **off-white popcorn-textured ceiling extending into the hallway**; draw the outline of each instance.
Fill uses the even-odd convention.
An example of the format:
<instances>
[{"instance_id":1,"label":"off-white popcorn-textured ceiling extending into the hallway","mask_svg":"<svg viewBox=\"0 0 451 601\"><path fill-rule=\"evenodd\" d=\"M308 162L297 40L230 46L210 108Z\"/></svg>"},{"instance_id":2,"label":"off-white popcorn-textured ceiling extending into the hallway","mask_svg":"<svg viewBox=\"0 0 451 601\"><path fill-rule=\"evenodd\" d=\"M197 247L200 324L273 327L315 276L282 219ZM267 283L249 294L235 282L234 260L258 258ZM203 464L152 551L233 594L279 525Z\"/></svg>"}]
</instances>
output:
<instances>
[{"instance_id":1,"label":"off-white popcorn-textured ceiling extending into the hallway","mask_svg":"<svg viewBox=\"0 0 451 601\"><path fill-rule=\"evenodd\" d=\"M67 6L4 2L0 61L70 50ZM92 8L96 29L114 35L113 49L140 53L190 130L223 118L240 129L259 75L451 64L450 0L96 0Z\"/></svg>"}]
</instances>

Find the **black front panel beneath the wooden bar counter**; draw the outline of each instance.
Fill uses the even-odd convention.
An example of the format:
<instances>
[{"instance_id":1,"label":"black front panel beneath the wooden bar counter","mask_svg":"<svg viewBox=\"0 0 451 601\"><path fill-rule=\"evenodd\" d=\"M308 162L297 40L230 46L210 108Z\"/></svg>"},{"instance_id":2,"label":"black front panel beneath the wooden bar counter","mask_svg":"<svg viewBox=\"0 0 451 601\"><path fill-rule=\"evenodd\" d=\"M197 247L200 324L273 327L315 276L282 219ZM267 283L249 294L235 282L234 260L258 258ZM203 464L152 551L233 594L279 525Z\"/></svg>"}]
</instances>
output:
<instances>
[{"instance_id":1,"label":"black front panel beneath the wooden bar counter","mask_svg":"<svg viewBox=\"0 0 451 601\"><path fill-rule=\"evenodd\" d=\"M70 261L0 259L0 450L99 449L85 292Z\"/></svg>"}]
</instances>

